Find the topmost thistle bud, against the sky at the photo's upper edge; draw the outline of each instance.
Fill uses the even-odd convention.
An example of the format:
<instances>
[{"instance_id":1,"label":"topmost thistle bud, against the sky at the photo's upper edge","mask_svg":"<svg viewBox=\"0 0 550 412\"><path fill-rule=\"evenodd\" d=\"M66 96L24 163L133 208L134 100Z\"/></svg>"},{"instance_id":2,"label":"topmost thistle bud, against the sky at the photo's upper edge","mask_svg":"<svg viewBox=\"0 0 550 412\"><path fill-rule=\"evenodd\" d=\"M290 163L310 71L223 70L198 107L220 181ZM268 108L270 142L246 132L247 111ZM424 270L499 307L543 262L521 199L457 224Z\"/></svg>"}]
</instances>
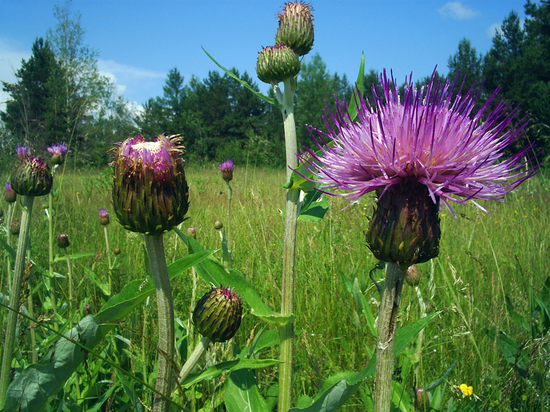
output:
<instances>
[{"instance_id":1,"label":"topmost thistle bud, against the sky at the photo's upper edge","mask_svg":"<svg viewBox=\"0 0 550 412\"><path fill-rule=\"evenodd\" d=\"M313 47L313 9L301 2L285 3L279 14L279 29L275 36L277 44L286 44L299 56L311 51Z\"/></svg>"}]
</instances>

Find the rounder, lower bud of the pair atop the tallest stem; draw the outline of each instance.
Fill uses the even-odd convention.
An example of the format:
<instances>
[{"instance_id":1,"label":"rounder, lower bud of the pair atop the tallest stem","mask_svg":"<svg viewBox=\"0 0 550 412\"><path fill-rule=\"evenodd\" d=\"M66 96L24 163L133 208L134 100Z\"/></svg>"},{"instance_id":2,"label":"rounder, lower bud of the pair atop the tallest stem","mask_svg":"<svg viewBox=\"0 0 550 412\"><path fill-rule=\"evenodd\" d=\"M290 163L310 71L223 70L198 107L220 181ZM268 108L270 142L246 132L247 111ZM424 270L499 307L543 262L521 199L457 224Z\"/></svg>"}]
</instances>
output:
<instances>
[{"instance_id":1,"label":"rounder, lower bud of the pair atop the tallest stem","mask_svg":"<svg viewBox=\"0 0 550 412\"><path fill-rule=\"evenodd\" d=\"M285 44L267 46L256 61L258 79L266 83L279 83L300 72L300 60L293 49Z\"/></svg>"}]
</instances>

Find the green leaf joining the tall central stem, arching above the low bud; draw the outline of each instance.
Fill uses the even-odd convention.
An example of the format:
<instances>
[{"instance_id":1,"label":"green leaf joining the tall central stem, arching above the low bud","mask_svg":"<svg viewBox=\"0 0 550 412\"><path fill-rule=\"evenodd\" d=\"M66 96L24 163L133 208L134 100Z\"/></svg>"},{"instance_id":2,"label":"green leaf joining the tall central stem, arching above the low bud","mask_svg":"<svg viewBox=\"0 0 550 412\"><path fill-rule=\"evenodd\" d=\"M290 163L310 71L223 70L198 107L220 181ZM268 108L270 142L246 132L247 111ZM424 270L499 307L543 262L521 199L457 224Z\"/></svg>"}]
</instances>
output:
<instances>
[{"instance_id":1,"label":"green leaf joining the tall central stem, arching above the low bud","mask_svg":"<svg viewBox=\"0 0 550 412\"><path fill-rule=\"evenodd\" d=\"M174 228L174 231L187 245L189 253L204 250L194 238L185 236L179 229ZM268 307L241 272L236 269L226 268L213 257L202 260L199 264L195 265L195 270L197 275L202 277L207 283L213 283L216 286L225 285L234 287L244 302L250 307L250 313L270 325L282 326L294 319L293 314L282 316Z\"/></svg>"}]
</instances>

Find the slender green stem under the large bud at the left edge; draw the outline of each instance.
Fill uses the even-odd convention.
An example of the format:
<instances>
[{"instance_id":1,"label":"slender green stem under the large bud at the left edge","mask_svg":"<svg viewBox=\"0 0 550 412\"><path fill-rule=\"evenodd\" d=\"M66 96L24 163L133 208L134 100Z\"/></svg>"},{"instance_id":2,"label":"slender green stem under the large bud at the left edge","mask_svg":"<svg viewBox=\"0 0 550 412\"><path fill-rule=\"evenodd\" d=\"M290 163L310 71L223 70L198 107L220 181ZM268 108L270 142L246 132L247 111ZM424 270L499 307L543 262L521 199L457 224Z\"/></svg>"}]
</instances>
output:
<instances>
[{"instance_id":1,"label":"slender green stem under the large bud at the left edge","mask_svg":"<svg viewBox=\"0 0 550 412\"><path fill-rule=\"evenodd\" d=\"M9 376L12 372L13 347L15 343L15 326L17 325L17 311L21 297L21 281L25 269L25 253L31 224L32 203L34 196L23 197L23 213L21 214L21 229L15 265L13 269L12 294L9 300L8 322L5 327L5 341L2 352L2 366L0 368L0 410L4 407L6 392L9 386Z\"/></svg>"}]
</instances>

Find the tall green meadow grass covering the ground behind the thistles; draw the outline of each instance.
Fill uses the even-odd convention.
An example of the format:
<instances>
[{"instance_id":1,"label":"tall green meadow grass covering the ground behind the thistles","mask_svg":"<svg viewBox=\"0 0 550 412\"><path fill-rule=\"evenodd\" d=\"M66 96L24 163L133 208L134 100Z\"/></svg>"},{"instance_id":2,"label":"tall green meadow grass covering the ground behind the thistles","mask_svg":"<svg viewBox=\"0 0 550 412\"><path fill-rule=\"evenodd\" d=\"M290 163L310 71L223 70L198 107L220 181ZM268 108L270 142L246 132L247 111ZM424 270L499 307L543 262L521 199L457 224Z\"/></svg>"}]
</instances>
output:
<instances>
[{"instance_id":1,"label":"tall green meadow grass covering the ground behind the thistles","mask_svg":"<svg viewBox=\"0 0 550 412\"><path fill-rule=\"evenodd\" d=\"M64 309L65 318L78 320L83 316L84 304L90 304L92 311L97 311L106 299L97 286L98 282L107 281L108 274L105 238L98 220L98 208L105 207L111 214L111 224L107 227L111 250L119 247L122 251L116 259L116 269L113 271L114 292L118 292L130 280L146 277L142 236L122 229L116 222L111 202L110 174L108 168L101 171L65 171L63 174L58 173L54 181L54 234L68 233L69 253L93 253L91 257L73 260L73 290L78 311L68 314L67 309ZM275 310L278 310L281 299L284 218L280 209L284 209L285 190L281 187L284 176L285 171L282 169L237 166L231 182L233 207L229 241L235 259L234 268L243 272L265 302ZM207 249L219 249L219 235L213 229L213 221L220 219L225 222L227 219L226 184L214 165L189 164L186 166L186 177L190 184L189 219L180 227L184 232L185 227L196 227L197 241ZM47 219L45 209L41 206L46 201L46 197L36 199L31 227L31 257L45 268L48 260ZM303 394L314 396L324 378L329 375L340 371L360 370L368 363L375 347L375 337L368 332L365 314L343 281L348 279L353 282L357 277L359 287L370 302L372 314L376 317L379 296L368 274L377 264L377 260L365 246L363 234L367 218L372 214L373 198L363 197L360 202L349 207L348 202L342 198L329 197L328 201L329 210L321 222L301 221L298 224L295 269L295 398ZM508 399L514 397L514 391L525 389L526 386L519 386L521 379L503 357L498 336L502 331L514 342L525 344L523 350L532 359L532 370L538 368L544 371L547 368L548 353L544 350L550 347L548 336L545 338L546 346L535 344L529 333L510 318L505 298L509 297L519 315L529 319L530 299L533 296L531 291L541 291L544 280L550 275L547 234L550 192L547 177L542 174L533 177L509 193L505 203L480 203L489 211L488 214L472 204L456 204L452 205L458 216L455 219L446 208L442 209L439 257L420 265L420 289L428 305L428 313L441 313L426 327L421 359L423 382L417 382L416 386L426 386L458 358L458 363L443 383L448 387L446 399L456 399L456 410L465 410L466 405L474 403L477 410L520 410L517 403L510 404ZM20 209L15 215L18 214ZM165 235L165 244L169 261L187 254L185 245L174 233ZM57 247L56 252L61 255ZM216 255L221 260L221 251ZM65 275L65 261L56 263L54 269ZM6 288L6 275L6 265L3 265L0 282L2 293ZM93 275L97 282L92 281ZM376 270L373 276L377 281L383 281L383 271ZM42 290L41 279L40 276L36 279L31 276L29 280L36 289L34 313L36 316L48 316L51 311L45 303L47 293ZM191 345L197 338L188 321L191 285L191 272L179 277L178 282L173 285L175 315L180 319L177 341L181 358L185 358L188 344ZM208 288L200 280L197 297L202 296ZM67 278L60 277L58 294L62 302L67 300L67 291ZM156 342L155 317L154 302L139 308L129 316L125 326L117 329L114 334L116 337L107 339L109 343L103 348L103 352L113 362L122 364L145 380L154 380L151 374L154 374L152 365L156 357L153 346ZM419 317L416 293L405 285L399 324L408 324ZM5 310L2 309L2 325L4 319ZM234 342L240 347L245 346L262 326L260 320L245 313ZM189 329L189 334L185 332L186 329ZM45 338L46 332L40 333ZM20 330L20 365L28 364L27 360L21 360L29 358L28 351L31 350L30 337L27 335L25 329ZM42 354L47 349L45 343L39 344L39 347ZM217 349L211 349L210 357L219 361L229 352L229 344L218 345ZM277 347L266 350L265 357L277 358ZM410 391L414 389L412 370L408 368L411 358L412 350L406 350L395 364L396 368L404 366L405 372L401 370L401 376L399 373L395 376L399 376L401 385L407 391L405 397L410 397ZM114 376L109 365L89 368L92 370L89 371L90 378L95 382L99 382L101 378L109 381L109 375ZM262 393L268 392L276 374L276 368L257 372ZM86 381L86 374L81 376L80 385L86 386L85 382L82 383ZM547 377L546 384L543 385L548 385L548 381ZM464 398L456 390L453 392L452 385L458 386L461 383L471 385L480 400L474 402L472 397ZM65 392L70 394L70 385L76 384L69 381L68 385ZM210 405L216 406L219 400L216 400L212 391L219 385L218 378L205 383L197 391L205 392L205 396L211 397ZM368 389L365 388L369 387L372 387L372 378L363 384L361 391L342 410L364 410L364 398L368 394ZM101 385L95 389L97 393L101 393L101 390ZM547 386L542 389L531 388L531 391L527 387L522 393L526 407L521 410L543 410L537 406L540 404L537 400L540 393L536 392L541 390L550 391ZM95 392L89 388L88 393L93 397ZM113 393L118 393L116 402L123 402L120 399L129 397L123 385ZM138 394L144 402L147 402L148 396L147 393ZM548 394L546 397L548 398ZM116 404L114 400L112 402ZM204 405L208 404L204 402ZM191 402L188 407L189 405L194 403ZM447 410L447 403L444 407ZM208 406L205 410L210 408ZM222 408L213 409L223 410Z\"/></svg>"}]
</instances>

